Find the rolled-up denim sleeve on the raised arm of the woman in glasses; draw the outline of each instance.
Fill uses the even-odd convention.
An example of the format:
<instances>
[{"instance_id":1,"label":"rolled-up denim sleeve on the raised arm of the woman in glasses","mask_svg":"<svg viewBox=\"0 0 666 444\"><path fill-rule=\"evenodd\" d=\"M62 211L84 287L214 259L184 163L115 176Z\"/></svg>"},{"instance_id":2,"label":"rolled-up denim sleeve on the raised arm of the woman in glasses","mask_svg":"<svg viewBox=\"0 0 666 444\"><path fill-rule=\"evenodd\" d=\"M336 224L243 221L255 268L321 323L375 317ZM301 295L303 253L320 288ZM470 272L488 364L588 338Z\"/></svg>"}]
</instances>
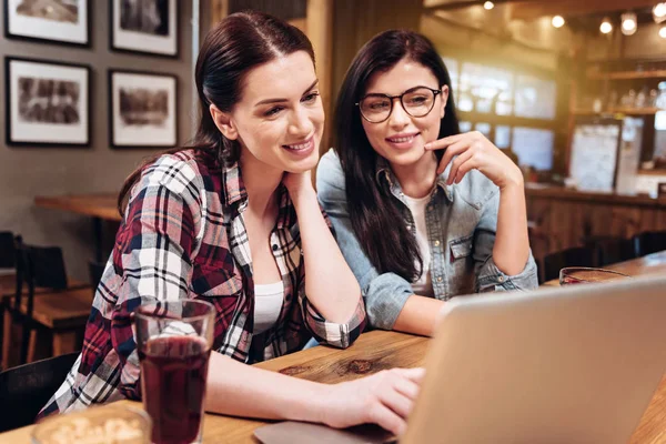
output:
<instances>
[{"instance_id":1,"label":"rolled-up denim sleeve on the raised arm of the woman in glasses","mask_svg":"<svg viewBox=\"0 0 666 444\"><path fill-rule=\"evenodd\" d=\"M478 292L533 290L538 286L536 263L532 251L523 271L508 275L495 265L493 246L497 232L500 192L494 193L483 208L483 214L474 235L474 262Z\"/></svg>"}]
</instances>

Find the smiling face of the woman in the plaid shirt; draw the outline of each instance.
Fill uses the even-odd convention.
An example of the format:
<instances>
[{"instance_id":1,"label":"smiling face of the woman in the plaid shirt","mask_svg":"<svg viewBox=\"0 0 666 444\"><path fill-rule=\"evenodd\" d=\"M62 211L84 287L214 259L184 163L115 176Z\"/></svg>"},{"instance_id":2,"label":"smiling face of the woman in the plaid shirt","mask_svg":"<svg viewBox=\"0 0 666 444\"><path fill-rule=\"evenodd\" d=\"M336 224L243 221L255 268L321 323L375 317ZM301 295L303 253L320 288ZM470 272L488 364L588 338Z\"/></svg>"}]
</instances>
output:
<instances>
[{"instance_id":1,"label":"smiling face of the woman in the plaid shirt","mask_svg":"<svg viewBox=\"0 0 666 444\"><path fill-rule=\"evenodd\" d=\"M211 112L220 131L241 143L241 158L251 155L273 170L293 173L316 165L324 108L314 63L305 51L252 69L233 110Z\"/></svg>"}]
</instances>

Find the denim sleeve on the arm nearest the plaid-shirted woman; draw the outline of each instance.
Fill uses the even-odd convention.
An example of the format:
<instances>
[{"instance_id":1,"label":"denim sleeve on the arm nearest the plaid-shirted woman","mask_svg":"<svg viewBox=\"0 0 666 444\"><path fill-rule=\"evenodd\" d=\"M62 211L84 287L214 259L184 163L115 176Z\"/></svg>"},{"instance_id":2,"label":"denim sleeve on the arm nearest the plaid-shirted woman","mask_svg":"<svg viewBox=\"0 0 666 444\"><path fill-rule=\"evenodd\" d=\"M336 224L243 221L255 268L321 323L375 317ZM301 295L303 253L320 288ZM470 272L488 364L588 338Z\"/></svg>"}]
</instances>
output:
<instances>
[{"instance_id":1,"label":"denim sleeve on the arm nearest the plaid-shirted woman","mask_svg":"<svg viewBox=\"0 0 666 444\"><path fill-rule=\"evenodd\" d=\"M335 229L337 245L361 286L370 324L376 329L393 329L407 299L414 294L412 285L395 273L379 273L363 252L352 229L344 174L333 151L324 154L319 164L316 189L320 204Z\"/></svg>"}]
</instances>

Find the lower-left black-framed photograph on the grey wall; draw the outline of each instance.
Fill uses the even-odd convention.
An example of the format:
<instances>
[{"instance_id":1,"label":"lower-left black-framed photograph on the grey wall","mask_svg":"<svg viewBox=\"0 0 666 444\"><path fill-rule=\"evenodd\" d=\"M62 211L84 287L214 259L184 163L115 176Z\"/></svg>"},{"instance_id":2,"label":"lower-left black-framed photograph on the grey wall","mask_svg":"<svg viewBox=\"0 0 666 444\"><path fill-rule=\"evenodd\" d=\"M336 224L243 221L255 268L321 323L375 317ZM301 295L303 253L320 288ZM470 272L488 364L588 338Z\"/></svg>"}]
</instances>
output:
<instances>
[{"instance_id":1,"label":"lower-left black-framed photograph on the grey wall","mask_svg":"<svg viewBox=\"0 0 666 444\"><path fill-rule=\"evenodd\" d=\"M90 72L84 64L4 58L7 144L88 147Z\"/></svg>"}]
</instances>

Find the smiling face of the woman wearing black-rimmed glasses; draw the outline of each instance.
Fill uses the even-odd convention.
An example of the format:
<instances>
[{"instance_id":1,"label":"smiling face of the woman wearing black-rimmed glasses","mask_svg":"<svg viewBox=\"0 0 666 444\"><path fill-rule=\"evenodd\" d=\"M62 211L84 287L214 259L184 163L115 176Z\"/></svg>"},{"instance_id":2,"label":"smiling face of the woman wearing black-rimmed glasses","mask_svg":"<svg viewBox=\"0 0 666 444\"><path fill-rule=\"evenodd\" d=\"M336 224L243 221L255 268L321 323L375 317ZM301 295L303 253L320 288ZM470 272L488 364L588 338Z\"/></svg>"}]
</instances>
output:
<instances>
[{"instance_id":1,"label":"smiling face of the woman wearing black-rimmed glasses","mask_svg":"<svg viewBox=\"0 0 666 444\"><path fill-rule=\"evenodd\" d=\"M442 89L442 93L435 95L434 107L428 114L414 118L405 112L398 99L394 99L393 111L385 121L371 123L361 117L370 144L392 165L415 164L424 158L423 147L437 140L448 87L440 85L428 68L410 59L402 59L389 71L376 72L367 82L364 94L400 95L416 87Z\"/></svg>"}]
</instances>

